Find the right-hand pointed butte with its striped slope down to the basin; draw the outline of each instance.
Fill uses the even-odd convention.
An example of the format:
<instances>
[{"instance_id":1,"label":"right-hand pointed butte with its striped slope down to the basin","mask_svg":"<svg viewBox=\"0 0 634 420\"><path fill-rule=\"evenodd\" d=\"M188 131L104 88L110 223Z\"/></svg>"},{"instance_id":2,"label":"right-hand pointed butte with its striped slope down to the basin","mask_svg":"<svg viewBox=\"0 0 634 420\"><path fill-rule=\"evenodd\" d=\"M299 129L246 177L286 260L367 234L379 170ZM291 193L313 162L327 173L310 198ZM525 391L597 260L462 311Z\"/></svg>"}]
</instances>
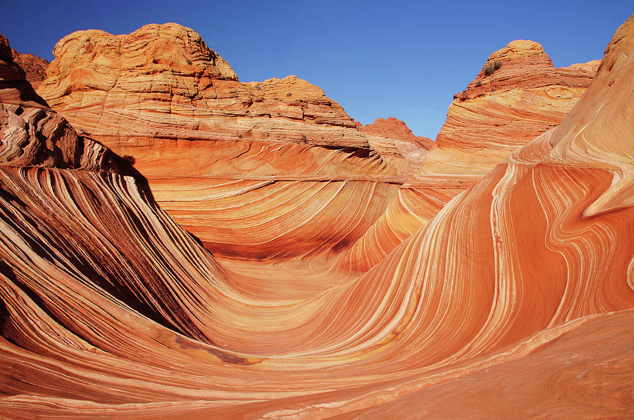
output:
<instances>
[{"instance_id":1,"label":"right-hand pointed butte with its striped slope down to the basin","mask_svg":"<svg viewBox=\"0 0 634 420\"><path fill-rule=\"evenodd\" d=\"M556 127L592 82L599 61L554 68L542 46L517 40L492 53L454 96L440 134L397 200L337 267L365 270L425 226L451 198L510 153Z\"/></svg>"}]
</instances>

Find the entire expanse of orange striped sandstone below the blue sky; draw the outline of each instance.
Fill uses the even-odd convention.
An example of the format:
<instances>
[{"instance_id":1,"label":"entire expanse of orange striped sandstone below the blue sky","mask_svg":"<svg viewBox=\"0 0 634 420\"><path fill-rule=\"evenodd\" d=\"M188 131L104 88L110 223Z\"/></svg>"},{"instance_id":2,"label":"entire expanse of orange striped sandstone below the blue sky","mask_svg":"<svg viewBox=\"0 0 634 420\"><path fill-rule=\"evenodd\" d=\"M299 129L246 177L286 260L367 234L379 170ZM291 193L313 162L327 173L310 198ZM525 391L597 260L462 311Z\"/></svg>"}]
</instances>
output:
<instances>
[{"instance_id":1,"label":"entire expanse of orange striped sandstone below the blue sky","mask_svg":"<svg viewBox=\"0 0 634 420\"><path fill-rule=\"evenodd\" d=\"M0 42L0 414L632 416L634 18L536 45L416 162L179 25L64 38L52 110Z\"/></svg>"}]
</instances>

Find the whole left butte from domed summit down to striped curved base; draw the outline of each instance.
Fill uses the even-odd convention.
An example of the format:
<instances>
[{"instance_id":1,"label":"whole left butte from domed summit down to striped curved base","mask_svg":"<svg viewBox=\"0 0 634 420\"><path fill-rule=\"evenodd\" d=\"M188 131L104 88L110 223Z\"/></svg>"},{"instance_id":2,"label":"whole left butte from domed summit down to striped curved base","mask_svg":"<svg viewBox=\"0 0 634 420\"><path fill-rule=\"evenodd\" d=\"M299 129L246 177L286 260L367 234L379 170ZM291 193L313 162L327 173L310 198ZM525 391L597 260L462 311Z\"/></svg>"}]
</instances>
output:
<instances>
[{"instance_id":1,"label":"whole left butte from domed summit down to striped curved base","mask_svg":"<svg viewBox=\"0 0 634 420\"><path fill-rule=\"evenodd\" d=\"M134 160L159 204L217 255L336 254L420 166L409 164L420 160L418 144L402 152L359 132L313 84L238 82L180 25L75 32L54 54L39 94L82 134ZM350 205L352 196L363 198ZM336 233L313 212L337 215Z\"/></svg>"}]
</instances>

